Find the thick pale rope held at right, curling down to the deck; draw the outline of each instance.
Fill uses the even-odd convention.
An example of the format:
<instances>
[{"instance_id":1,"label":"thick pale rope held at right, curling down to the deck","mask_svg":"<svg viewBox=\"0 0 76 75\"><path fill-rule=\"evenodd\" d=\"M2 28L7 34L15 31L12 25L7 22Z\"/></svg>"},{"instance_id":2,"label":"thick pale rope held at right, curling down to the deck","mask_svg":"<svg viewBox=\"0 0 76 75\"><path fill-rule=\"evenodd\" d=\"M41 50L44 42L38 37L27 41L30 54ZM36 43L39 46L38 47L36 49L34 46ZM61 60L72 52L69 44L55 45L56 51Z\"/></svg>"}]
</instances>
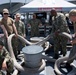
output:
<instances>
[{"instance_id":1,"label":"thick pale rope held at right, curling down to the deck","mask_svg":"<svg viewBox=\"0 0 76 75\"><path fill-rule=\"evenodd\" d=\"M72 40L72 36L70 34L66 33L66 32L63 32L60 35L65 36L68 39ZM74 46L73 46L73 49L75 49ZM72 60L72 59L76 58L76 54L74 56L70 57L71 53L72 52L70 52L70 54L69 54L68 57L61 57L61 58L59 58L59 59L56 60L55 65L54 65L54 70L57 73L57 75L65 75L62 72L60 72L60 70L59 70L59 67L60 67L61 63L63 63L64 61L68 62L69 60Z\"/></svg>"}]
</instances>

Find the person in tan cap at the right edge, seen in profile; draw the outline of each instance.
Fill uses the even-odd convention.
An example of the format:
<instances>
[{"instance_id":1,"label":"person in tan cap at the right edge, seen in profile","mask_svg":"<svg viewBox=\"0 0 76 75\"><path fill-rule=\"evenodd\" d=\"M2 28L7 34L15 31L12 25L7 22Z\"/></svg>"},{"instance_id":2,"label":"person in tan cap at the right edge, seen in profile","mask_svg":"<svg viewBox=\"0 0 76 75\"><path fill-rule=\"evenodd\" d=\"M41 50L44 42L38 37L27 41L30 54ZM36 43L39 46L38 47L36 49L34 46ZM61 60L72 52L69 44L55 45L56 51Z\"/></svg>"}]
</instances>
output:
<instances>
[{"instance_id":1,"label":"person in tan cap at the right edge, seen in profile","mask_svg":"<svg viewBox=\"0 0 76 75\"><path fill-rule=\"evenodd\" d=\"M74 39L72 41L70 41L71 44L73 45L73 48L72 48L72 50L70 52L69 60L67 61L66 66L67 65L70 66L70 64L75 59L75 58L72 58L72 57L76 55L76 9L70 10L70 12L69 12L69 18L73 22L73 26L74 26L74 34L73 34L73 38Z\"/></svg>"}]
</instances>

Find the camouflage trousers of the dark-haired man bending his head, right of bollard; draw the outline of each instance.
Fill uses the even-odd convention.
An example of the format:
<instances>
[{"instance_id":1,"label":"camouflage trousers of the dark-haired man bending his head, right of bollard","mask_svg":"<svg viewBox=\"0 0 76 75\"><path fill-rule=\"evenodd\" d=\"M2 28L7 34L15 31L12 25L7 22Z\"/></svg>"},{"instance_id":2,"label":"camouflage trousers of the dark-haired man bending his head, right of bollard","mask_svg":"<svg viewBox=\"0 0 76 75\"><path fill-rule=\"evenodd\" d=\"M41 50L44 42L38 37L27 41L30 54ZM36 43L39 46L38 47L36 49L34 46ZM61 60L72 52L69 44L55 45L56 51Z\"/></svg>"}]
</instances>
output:
<instances>
[{"instance_id":1,"label":"camouflage trousers of the dark-haired man bending his head, right of bollard","mask_svg":"<svg viewBox=\"0 0 76 75\"><path fill-rule=\"evenodd\" d=\"M65 56L67 52L67 49L66 49L67 41L68 39L66 37L55 36L54 37L54 53L58 54L59 51L62 51L63 56Z\"/></svg>"}]
</instances>

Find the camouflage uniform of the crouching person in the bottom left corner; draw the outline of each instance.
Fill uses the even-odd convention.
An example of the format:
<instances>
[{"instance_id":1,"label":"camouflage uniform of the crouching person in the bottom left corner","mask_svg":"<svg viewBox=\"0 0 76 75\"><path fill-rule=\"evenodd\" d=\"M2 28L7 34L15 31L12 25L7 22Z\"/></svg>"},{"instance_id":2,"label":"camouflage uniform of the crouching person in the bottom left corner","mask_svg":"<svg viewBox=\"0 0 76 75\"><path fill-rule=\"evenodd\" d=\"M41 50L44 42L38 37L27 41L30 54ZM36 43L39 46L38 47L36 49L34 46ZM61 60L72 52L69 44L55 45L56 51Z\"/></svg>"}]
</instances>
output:
<instances>
[{"instance_id":1,"label":"camouflage uniform of the crouching person in the bottom left corner","mask_svg":"<svg viewBox=\"0 0 76 75\"><path fill-rule=\"evenodd\" d=\"M11 59L5 47L3 47L2 50L0 51L0 70L2 69L2 63L4 60L6 60L6 64L7 64L6 71L8 73L12 73L13 72L13 60ZM0 75L2 75L1 71L0 71Z\"/></svg>"}]
</instances>

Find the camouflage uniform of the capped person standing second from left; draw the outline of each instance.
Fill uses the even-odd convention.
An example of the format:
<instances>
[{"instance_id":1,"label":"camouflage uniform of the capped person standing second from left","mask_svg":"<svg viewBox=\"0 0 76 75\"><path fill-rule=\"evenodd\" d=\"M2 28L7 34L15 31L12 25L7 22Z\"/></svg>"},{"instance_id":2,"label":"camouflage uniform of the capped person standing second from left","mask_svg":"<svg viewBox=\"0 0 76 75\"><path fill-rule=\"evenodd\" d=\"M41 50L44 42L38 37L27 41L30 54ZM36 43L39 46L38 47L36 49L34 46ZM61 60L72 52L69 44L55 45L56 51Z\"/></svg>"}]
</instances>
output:
<instances>
[{"instance_id":1,"label":"camouflage uniform of the capped person standing second from left","mask_svg":"<svg viewBox=\"0 0 76 75\"><path fill-rule=\"evenodd\" d=\"M21 20L19 20L17 22L14 21L14 23L15 23L18 34L24 37L24 35L25 35L25 25L24 25L24 23ZM22 41L19 40L19 39L16 39L15 43L16 43L16 46L14 46L15 54L16 53L19 54L20 51L22 50L22 48L25 46L25 44L22 43Z\"/></svg>"}]
</instances>

